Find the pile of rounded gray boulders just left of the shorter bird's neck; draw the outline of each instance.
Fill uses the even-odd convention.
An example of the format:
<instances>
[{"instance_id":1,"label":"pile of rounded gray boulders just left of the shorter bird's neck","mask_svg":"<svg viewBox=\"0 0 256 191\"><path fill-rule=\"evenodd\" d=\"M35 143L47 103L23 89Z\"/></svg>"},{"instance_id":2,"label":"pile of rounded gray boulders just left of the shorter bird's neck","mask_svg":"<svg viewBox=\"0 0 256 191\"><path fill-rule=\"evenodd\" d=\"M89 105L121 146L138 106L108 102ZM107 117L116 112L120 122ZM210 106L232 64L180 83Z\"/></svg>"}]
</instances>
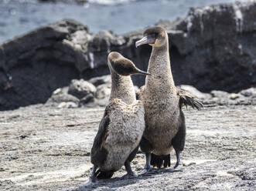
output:
<instances>
[{"instance_id":1,"label":"pile of rounded gray boulders just left of the shorter bird's neck","mask_svg":"<svg viewBox=\"0 0 256 191\"><path fill-rule=\"evenodd\" d=\"M69 86L56 89L47 100L46 106L58 108L107 106L110 94L110 75L93 78L88 82L84 79L73 79Z\"/></svg>"}]
</instances>

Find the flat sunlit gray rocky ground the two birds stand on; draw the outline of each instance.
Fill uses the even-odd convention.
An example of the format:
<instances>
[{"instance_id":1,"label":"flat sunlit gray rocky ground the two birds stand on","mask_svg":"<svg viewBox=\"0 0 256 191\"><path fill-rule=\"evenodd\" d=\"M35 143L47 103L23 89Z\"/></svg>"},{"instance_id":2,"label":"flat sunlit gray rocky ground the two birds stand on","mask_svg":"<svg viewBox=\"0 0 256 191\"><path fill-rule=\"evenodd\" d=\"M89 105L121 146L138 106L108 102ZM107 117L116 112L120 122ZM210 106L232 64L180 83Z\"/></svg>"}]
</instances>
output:
<instances>
[{"instance_id":1,"label":"flat sunlit gray rocky ground the two birds stand on","mask_svg":"<svg viewBox=\"0 0 256 191\"><path fill-rule=\"evenodd\" d=\"M184 109L186 149L178 169L120 180L122 168L90 188L81 185L91 171L90 148L104 107L46 104L0 112L0 190L255 190L256 103L254 95L246 98ZM144 163L139 152L131 167L139 173Z\"/></svg>"}]
</instances>

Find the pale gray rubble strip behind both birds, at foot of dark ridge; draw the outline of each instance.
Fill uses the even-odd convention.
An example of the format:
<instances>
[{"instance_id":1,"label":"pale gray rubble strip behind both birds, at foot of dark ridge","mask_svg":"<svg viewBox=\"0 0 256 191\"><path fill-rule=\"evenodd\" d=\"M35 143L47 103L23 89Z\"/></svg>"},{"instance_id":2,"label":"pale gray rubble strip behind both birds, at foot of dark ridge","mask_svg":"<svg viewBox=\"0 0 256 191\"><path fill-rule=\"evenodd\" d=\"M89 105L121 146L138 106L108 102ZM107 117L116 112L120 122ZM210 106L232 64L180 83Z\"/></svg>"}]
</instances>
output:
<instances>
[{"instance_id":1,"label":"pale gray rubble strip behind both birds, at foot of dark ridge","mask_svg":"<svg viewBox=\"0 0 256 191\"><path fill-rule=\"evenodd\" d=\"M96 87L94 87L93 83ZM229 93L220 90L203 93L192 85L178 85L177 88L184 89L195 95L205 106L256 104L254 88L245 89L239 93ZM139 92L136 85L135 92ZM84 79L73 79L68 87L56 89L47 100L46 106L59 108L107 106L110 94L111 75L92 78L88 82L84 81Z\"/></svg>"}]
</instances>

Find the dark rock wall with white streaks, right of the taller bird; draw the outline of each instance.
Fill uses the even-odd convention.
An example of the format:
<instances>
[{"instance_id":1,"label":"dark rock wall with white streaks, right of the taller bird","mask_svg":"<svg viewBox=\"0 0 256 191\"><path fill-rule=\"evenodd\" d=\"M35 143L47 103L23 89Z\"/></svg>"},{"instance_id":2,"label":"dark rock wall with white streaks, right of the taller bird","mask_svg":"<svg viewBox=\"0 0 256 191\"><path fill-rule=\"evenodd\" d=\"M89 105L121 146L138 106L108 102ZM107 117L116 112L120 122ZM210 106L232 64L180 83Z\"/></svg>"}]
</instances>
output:
<instances>
[{"instance_id":1,"label":"dark rock wall with white streaks, right of the taller bird","mask_svg":"<svg viewBox=\"0 0 256 191\"><path fill-rule=\"evenodd\" d=\"M203 92L256 85L256 3L196 8L170 27L176 83Z\"/></svg>"}]
</instances>

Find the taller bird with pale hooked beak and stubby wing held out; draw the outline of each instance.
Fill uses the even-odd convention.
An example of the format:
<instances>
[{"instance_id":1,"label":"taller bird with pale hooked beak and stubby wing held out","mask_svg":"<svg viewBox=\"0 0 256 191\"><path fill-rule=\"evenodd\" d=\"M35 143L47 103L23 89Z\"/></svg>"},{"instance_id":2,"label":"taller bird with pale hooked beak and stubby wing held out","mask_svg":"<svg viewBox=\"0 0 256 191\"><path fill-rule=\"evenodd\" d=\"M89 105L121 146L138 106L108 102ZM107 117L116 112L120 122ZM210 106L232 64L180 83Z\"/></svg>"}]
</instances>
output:
<instances>
[{"instance_id":1,"label":"taller bird with pale hooked beak and stubby wing held out","mask_svg":"<svg viewBox=\"0 0 256 191\"><path fill-rule=\"evenodd\" d=\"M176 89L172 79L169 60L169 39L164 28L156 26L143 33L144 38L136 46L152 45L152 54L148 62L145 86L138 97L145 107L145 132L141 149L152 152L153 166L169 166L169 153L172 147L176 150L177 164L179 153L185 145L186 126L181 110L183 105L200 108L201 104L192 95Z\"/></svg>"}]
</instances>

